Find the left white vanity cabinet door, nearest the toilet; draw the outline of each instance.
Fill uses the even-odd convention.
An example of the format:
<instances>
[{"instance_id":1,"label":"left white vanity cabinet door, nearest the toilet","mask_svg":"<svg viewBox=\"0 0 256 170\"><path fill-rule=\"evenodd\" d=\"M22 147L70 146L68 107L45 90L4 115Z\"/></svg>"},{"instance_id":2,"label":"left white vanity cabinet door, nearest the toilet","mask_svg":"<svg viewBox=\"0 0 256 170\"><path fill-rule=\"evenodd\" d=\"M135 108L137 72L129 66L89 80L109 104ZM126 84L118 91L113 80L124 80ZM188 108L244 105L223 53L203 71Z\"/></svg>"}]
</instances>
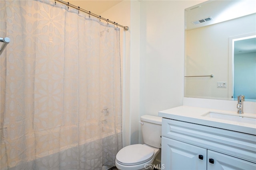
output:
<instances>
[{"instance_id":1,"label":"left white vanity cabinet door, nearest the toilet","mask_svg":"<svg viewBox=\"0 0 256 170\"><path fill-rule=\"evenodd\" d=\"M166 170L206 170L207 150L162 137L161 164Z\"/></svg>"}]
</instances>

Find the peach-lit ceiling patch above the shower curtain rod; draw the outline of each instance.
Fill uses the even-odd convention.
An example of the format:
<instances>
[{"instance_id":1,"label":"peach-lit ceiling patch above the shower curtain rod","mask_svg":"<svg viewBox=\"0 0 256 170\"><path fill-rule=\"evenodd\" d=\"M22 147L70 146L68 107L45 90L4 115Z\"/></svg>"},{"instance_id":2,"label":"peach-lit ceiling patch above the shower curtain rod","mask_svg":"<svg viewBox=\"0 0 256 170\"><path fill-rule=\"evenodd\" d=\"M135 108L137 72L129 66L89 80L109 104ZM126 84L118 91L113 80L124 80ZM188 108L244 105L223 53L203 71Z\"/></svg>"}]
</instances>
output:
<instances>
[{"instance_id":1,"label":"peach-lit ceiling patch above the shower curtain rod","mask_svg":"<svg viewBox=\"0 0 256 170\"><path fill-rule=\"evenodd\" d=\"M74 6L90 11L93 14L100 15L102 12L110 9L122 0L64 0ZM104 17L104 16L103 16Z\"/></svg>"}]
</instances>

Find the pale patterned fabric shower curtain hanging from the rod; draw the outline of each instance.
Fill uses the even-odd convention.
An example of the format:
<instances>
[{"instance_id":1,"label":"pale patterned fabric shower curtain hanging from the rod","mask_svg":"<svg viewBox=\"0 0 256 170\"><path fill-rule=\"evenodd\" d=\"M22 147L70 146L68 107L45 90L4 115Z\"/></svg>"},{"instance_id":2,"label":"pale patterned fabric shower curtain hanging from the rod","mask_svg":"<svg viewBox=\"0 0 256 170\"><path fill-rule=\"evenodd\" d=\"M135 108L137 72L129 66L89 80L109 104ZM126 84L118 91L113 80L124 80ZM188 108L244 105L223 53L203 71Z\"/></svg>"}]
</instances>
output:
<instances>
[{"instance_id":1,"label":"pale patterned fabric shower curtain hanging from the rod","mask_svg":"<svg viewBox=\"0 0 256 170\"><path fill-rule=\"evenodd\" d=\"M119 28L1 0L1 170L100 170L122 147Z\"/></svg>"}]
</instances>

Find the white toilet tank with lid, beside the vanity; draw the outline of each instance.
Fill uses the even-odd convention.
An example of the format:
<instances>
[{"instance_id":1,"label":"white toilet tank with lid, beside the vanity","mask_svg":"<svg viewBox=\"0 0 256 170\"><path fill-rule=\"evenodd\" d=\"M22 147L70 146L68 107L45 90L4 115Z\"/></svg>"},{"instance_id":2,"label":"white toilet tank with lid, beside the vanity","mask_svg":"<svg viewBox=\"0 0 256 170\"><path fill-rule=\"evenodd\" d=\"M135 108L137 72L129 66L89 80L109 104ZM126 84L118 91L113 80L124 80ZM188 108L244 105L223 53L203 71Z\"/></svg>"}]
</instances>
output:
<instances>
[{"instance_id":1,"label":"white toilet tank with lid, beside the vanity","mask_svg":"<svg viewBox=\"0 0 256 170\"><path fill-rule=\"evenodd\" d=\"M161 148L162 117L143 115L140 117L144 143L155 148Z\"/></svg>"}]
</instances>

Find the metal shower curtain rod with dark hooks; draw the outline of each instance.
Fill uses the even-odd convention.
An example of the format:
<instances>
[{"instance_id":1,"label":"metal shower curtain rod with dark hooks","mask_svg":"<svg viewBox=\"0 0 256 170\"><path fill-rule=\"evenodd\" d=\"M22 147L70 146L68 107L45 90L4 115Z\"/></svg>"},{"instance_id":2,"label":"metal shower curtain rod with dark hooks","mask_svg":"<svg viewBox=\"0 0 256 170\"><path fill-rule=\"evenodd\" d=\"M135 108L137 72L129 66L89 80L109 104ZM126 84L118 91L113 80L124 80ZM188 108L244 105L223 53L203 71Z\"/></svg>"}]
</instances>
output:
<instances>
[{"instance_id":1,"label":"metal shower curtain rod with dark hooks","mask_svg":"<svg viewBox=\"0 0 256 170\"><path fill-rule=\"evenodd\" d=\"M128 29L129 29L128 26L123 26L123 25L120 25L120 24L118 24L118 23L116 23L116 22L110 21L110 20L108 20L108 19L106 19L106 18L102 18L101 16L98 16L98 15L96 15L96 14L93 14L93 13L91 13L90 11L86 11L86 10L80 8L79 6L74 6L74 5L70 4L69 2L65 2L65 1L63 1L63 0L54 0L54 1L55 1L55 4L56 4L56 1L58 1L58 2L60 2L60 3L62 3L62 4L65 4L65 5L68 6L68 7L72 7L72 8L77 9L78 12L79 12L79 11L85 12L86 14L89 14L89 16L94 16L94 17L96 17L96 18L99 18L100 20L107 21L107 23L112 23L112 24L114 24L114 25L116 25L116 26L122 27L122 28L124 28L125 31L128 31Z\"/></svg>"}]
</instances>

